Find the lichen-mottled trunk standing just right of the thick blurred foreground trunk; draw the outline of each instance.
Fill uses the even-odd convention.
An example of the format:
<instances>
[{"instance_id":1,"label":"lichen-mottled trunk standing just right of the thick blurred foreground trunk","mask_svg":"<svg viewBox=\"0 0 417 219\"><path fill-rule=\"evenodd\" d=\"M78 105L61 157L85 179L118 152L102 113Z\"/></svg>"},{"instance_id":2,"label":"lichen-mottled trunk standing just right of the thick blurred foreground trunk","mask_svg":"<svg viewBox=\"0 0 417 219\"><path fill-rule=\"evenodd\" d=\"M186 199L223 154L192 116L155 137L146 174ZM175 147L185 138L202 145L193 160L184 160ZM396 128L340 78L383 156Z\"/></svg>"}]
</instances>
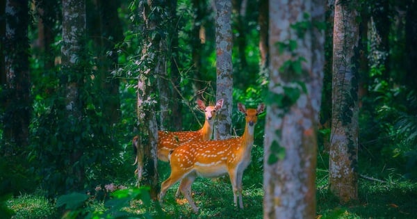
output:
<instances>
[{"instance_id":1,"label":"lichen-mottled trunk standing just right of the thick blurred foreground trunk","mask_svg":"<svg viewBox=\"0 0 417 219\"><path fill-rule=\"evenodd\" d=\"M357 1L334 4L332 132L329 186L341 202L358 197L358 70Z\"/></svg>"}]
</instances>

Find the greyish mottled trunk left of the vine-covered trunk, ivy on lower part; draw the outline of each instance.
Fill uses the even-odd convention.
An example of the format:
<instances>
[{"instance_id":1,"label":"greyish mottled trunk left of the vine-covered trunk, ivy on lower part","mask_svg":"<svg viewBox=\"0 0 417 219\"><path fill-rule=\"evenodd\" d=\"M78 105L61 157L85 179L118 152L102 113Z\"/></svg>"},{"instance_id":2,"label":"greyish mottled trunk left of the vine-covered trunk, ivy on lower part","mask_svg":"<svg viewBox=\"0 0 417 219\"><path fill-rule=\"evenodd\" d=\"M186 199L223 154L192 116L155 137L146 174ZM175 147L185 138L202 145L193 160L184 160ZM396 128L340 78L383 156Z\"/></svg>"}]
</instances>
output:
<instances>
[{"instance_id":1,"label":"greyish mottled trunk left of the vine-covered trunk, ivy on lower part","mask_svg":"<svg viewBox=\"0 0 417 219\"><path fill-rule=\"evenodd\" d=\"M62 65L61 83L65 90L65 109L67 111L67 122L74 127L70 136L81 136L82 104L79 97L79 89L83 87L85 75L84 65L81 62L85 55L85 1L63 0L63 46L61 47ZM85 178L83 165L75 165L83 155L80 143L71 139L68 143L71 148L69 174L74 175L74 190L83 188L82 182Z\"/></svg>"}]
</instances>

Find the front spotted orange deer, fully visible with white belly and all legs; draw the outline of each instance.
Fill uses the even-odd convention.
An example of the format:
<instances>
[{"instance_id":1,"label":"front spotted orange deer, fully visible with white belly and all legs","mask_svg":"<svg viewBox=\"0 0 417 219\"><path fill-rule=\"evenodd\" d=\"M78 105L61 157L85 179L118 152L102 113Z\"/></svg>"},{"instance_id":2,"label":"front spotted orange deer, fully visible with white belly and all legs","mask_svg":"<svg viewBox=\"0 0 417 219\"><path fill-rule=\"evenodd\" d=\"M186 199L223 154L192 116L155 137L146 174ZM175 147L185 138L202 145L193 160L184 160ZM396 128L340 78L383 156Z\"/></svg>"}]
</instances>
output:
<instances>
[{"instance_id":1,"label":"front spotted orange deer, fully visible with white belly and all legs","mask_svg":"<svg viewBox=\"0 0 417 219\"><path fill-rule=\"evenodd\" d=\"M181 180L176 195L181 191L193 211L198 213L198 208L190 197L191 185L196 177L215 178L229 175L234 205L237 206L239 202L240 209L243 209L243 171L250 164L254 126L264 108L264 104L259 104L257 108L246 109L245 105L238 103L238 110L245 114L246 122L245 131L238 138L193 141L171 150L168 156L171 174L161 184L159 202L163 204L163 197L168 188Z\"/></svg>"}]
</instances>

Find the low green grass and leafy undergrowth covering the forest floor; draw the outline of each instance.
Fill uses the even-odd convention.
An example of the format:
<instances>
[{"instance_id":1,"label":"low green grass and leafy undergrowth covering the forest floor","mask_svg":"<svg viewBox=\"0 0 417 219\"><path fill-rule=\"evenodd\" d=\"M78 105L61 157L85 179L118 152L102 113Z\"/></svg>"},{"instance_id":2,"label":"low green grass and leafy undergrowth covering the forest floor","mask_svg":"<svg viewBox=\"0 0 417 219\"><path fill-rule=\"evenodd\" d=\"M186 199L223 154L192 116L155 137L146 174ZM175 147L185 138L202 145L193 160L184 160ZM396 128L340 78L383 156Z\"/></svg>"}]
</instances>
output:
<instances>
[{"instance_id":1,"label":"low green grass and leafy undergrowth covering the forest floor","mask_svg":"<svg viewBox=\"0 0 417 219\"><path fill-rule=\"evenodd\" d=\"M257 158L261 153L256 153L255 147L254 159L243 175L244 209L234 206L228 177L196 179L192 197L199 207L198 214L193 213L182 196L178 199L174 197L178 183L167 191L160 206L158 202L149 199L145 190L133 188L134 180L124 185L127 189L119 190L105 200L78 193L58 202L49 202L42 193L33 193L15 196L6 205L15 211L13 218L263 218L263 170ZM169 175L169 165L160 163L159 169L160 180L163 181ZM359 200L339 204L337 198L328 191L327 175L327 159L319 156L316 218L416 218L416 181L404 179L392 172L379 179L361 177ZM77 197L80 205L72 197ZM63 209L66 204L75 207Z\"/></svg>"}]
</instances>

